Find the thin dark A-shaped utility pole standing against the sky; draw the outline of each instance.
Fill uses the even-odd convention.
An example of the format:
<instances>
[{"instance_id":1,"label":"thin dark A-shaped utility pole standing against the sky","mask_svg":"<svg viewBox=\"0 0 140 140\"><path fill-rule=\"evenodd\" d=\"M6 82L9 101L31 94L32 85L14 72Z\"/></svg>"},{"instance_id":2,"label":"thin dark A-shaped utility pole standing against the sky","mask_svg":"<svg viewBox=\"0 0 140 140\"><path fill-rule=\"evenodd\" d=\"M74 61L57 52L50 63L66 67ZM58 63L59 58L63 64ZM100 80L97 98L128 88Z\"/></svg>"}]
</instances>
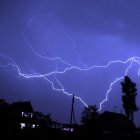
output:
<instances>
[{"instance_id":1,"label":"thin dark A-shaped utility pole standing against the sky","mask_svg":"<svg viewBox=\"0 0 140 140\"><path fill-rule=\"evenodd\" d=\"M73 122L72 122L72 121L73 121ZM72 96L72 103L71 103L70 131L71 131L72 123L75 124L75 114L74 114L74 94L73 94L73 96Z\"/></svg>"}]
</instances>

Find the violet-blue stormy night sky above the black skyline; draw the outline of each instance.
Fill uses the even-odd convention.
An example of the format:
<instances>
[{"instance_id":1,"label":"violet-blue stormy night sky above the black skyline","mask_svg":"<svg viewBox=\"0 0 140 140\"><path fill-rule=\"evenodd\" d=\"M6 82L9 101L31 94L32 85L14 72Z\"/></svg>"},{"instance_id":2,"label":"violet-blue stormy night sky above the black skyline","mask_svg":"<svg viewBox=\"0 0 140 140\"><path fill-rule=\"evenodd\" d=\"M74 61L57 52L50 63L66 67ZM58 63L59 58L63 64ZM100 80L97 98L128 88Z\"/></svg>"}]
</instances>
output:
<instances>
[{"instance_id":1,"label":"violet-blue stormy night sky above the black skyline","mask_svg":"<svg viewBox=\"0 0 140 140\"><path fill-rule=\"evenodd\" d=\"M99 108L110 83L128 70L140 106L140 63L127 62L140 56L139 26L139 0L0 0L0 98L31 101L34 110L69 123L67 94ZM117 60L127 63L94 67ZM124 113L121 81L111 86L101 112ZM75 99L77 122L84 107Z\"/></svg>"}]
</instances>

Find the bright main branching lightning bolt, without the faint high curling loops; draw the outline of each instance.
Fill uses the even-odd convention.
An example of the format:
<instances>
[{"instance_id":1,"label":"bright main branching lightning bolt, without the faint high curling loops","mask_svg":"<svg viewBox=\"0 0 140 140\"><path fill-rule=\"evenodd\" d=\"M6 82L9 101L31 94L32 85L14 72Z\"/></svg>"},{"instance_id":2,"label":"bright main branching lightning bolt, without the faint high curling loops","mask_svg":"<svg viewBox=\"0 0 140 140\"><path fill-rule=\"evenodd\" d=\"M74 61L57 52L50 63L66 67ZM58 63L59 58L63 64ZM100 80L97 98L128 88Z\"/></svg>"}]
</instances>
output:
<instances>
[{"instance_id":1,"label":"bright main branching lightning bolt, without the faint high curling loops","mask_svg":"<svg viewBox=\"0 0 140 140\"><path fill-rule=\"evenodd\" d=\"M41 54L37 53L33 49L31 44L27 40L25 40L25 41L28 43L28 45L30 46L30 48L32 49L33 53L36 56L38 56L42 59L47 59L49 61L60 61L61 63L65 64L67 66L67 68L65 68L62 71L55 70L55 71L45 73L45 74L40 74L40 73L35 73L35 72L23 73L21 71L20 67L15 63L15 61L12 60L10 57L4 55L3 53L0 53L0 57L4 60L8 61L8 64L0 64L0 67L4 67L4 68L12 67L17 72L17 74L19 76L24 77L26 79L43 78L44 80L46 80L47 82L49 82L51 84L53 90L58 91L58 92L63 92L64 94L66 94L68 96L72 96L73 93L68 93L67 91L65 91L64 86L62 85L62 83L57 78L57 74L64 74L64 73L66 73L67 71L70 71L70 70L89 71L89 70L97 69L97 68L107 69L112 64L118 63L118 64L129 64L128 67L126 68L125 72L124 72L124 75L127 75L129 69L132 68L133 63L137 63L140 66L140 57L130 57L126 61L122 61L122 60L109 61L106 65L94 65L94 66L91 66L89 68L80 68L80 67L74 66L74 65L62 60L60 57L50 58L50 57L42 56ZM138 70L138 75L140 76L140 68ZM54 77L55 81L59 85L59 88L56 88L55 85L54 85L54 82L52 80L49 80L50 76ZM109 93L112 91L113 86L117 82L121 81L123 78L124 78L124 76L117 77L113 82L110 83L109 89L107 90L107 92L105 94L105 99L100 102L98 111L102 110L102 105L103 105L104 102L106 102L108 100ZM83 103L84 106L88 107L88 105L81 99L81 97L75 96L75 98L80 100Z\"/></svg>"}]
</instances>

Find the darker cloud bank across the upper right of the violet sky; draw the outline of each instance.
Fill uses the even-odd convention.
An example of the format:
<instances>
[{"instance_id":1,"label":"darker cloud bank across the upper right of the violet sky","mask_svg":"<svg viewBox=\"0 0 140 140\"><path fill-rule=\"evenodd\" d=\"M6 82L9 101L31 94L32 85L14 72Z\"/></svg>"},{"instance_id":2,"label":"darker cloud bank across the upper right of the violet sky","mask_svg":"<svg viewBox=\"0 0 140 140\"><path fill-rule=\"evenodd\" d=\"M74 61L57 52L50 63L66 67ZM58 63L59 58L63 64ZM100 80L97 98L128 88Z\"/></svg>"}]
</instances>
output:
<instances>
[{"instance_id":1,"label":"darker cloud bank across the upper right of the violet sky","mask_svg":"<svg viewBox=\"0 0 140 140\"><path fill-rule=\"evenodd\" d=\"M73 0L61 1L55 10L64 26L71 30L138 38L139 6L138 0Z\"/></svg>"}]
</instances>

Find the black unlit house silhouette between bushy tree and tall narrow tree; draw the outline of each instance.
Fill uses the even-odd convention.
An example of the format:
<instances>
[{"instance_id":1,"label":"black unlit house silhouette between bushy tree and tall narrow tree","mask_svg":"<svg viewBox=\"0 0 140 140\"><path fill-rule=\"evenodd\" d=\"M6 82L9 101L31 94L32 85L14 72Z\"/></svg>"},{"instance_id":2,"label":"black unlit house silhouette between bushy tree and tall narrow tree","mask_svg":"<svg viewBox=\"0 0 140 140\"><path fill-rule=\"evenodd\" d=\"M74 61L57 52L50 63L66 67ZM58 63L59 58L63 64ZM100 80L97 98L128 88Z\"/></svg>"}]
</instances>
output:
<instances>
[{"instance_id":1,"label":"black unlit house silhouette between bushy tree and tall narrow tree","mask_svg":"<svg viewBox=\"0 0 140 140\"><path fill-rule=\"evenodd\" d=\"M98 125L103 133L115 135L129 135L136 130L134 122L125 115L108 111L100 115Z\"/></svg>"}]
</instances>

